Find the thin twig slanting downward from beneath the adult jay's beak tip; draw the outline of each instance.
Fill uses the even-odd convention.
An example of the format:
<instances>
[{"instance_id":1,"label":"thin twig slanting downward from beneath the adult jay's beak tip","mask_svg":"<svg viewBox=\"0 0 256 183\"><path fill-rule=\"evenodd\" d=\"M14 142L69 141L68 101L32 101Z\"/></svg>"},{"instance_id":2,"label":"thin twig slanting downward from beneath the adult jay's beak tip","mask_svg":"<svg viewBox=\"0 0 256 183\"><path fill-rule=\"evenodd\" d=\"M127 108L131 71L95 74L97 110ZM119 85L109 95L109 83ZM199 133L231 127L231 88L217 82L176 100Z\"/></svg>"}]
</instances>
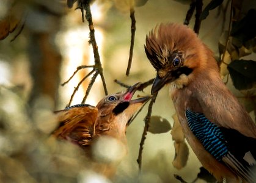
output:
<instances>
[{"instance_id":1,"label":"thin twig slanting downward from beneath the adult jay's beak tip","mask_svg":"<svg viewBox=\"0 0 256 183\"><path fill-rule=\"evenodd\" d=\"M148 131L148 127L150 124L150 118L151 118L151 113L152 113L152 107L154 102L156 101L156 96L158 95L158 93L155 93L150 101L150 104L148 105L148 113L147 116L144 119L145 122L145 126L144 126L144 131L142 133L142 137L141 137L141 143L139 143L139 155L137 157L137 163L139 165L139 170L141 171L141 165L142 165L142 151L143 151L143 146L144 146L144 142L147 136L147 131Z\"/></svg>"}]
</instances>

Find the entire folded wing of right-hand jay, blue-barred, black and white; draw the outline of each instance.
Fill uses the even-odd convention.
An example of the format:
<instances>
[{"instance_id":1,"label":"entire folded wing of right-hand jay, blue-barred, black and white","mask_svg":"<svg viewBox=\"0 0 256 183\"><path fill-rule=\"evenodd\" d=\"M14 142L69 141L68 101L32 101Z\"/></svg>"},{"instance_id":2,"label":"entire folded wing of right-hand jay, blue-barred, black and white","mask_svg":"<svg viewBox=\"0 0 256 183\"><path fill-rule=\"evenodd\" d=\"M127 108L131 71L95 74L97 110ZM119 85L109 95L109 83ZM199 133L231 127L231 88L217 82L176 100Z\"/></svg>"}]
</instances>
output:
<instances>
[{"instance_id":1,"label":"entire folded wing of right-hand jay, blue-barred, black and white","mask_svg":"<svg viewBox=\"0 0 256 183\"><path fill-rule=\"evenodd\" d=\"M235 129L219 127L203 113L187 109L186 119L193 134L217 160L249 182L253 182L256 159L256 139L246 137ZM254 170L255 171L255 170Z\"/></svg>"}]
</instances>

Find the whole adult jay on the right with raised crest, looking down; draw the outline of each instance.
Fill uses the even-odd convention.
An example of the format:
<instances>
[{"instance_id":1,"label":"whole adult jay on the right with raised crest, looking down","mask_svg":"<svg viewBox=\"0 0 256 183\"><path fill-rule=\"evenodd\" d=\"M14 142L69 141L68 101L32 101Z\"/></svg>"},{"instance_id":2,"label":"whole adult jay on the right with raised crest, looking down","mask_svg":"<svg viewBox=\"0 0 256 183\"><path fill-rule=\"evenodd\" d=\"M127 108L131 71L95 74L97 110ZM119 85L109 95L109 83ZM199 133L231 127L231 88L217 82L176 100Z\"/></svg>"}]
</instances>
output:
<instances>
[{"instance_id":1,"label":"whole adult jay on the right with raised crest, looking down","mask_svg":"<svg viewBox=\"0 0 256 183\"><path fill-rule=\"evenodd\" d=\"M183 132L203 167L218 181L256 181L256 125L222 82L213 52L189 27L174 23L153 29L145 52L157 71L152 93L170 85Z\"/></svg>"}]
</instances>

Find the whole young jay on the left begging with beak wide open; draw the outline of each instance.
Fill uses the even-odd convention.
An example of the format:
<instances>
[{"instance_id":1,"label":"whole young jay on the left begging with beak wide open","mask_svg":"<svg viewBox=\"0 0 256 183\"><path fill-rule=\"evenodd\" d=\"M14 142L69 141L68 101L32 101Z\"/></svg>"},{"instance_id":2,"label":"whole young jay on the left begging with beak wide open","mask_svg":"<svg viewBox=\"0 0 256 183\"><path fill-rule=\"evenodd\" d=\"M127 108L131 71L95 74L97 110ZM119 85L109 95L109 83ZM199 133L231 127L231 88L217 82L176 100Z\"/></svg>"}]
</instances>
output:
<instances>
[{"instance_id":1,"label":"whole young jay on the left begging with beak wide open","mask_svg":"<svg viewBox=\"0 0 256 183\"><path fill-rule=\"evenodd\" d=\"M57 111L59 126L53 132L53 136L79 145L93 164L95 163L93 170L111 177L115 173L117 162L99 163L94 159L95 153L101 153L95 152L97 140L101 137L115 139L123 147L123 152L126 152L126 127L130 124L134 113L150 99L150 96L131 99L140 85L138 83L125 92L106 96L98 102L96 107L77 104ZM101 151L101 147L99 148L98 151Z\"/></svg>"}]
</instances>

